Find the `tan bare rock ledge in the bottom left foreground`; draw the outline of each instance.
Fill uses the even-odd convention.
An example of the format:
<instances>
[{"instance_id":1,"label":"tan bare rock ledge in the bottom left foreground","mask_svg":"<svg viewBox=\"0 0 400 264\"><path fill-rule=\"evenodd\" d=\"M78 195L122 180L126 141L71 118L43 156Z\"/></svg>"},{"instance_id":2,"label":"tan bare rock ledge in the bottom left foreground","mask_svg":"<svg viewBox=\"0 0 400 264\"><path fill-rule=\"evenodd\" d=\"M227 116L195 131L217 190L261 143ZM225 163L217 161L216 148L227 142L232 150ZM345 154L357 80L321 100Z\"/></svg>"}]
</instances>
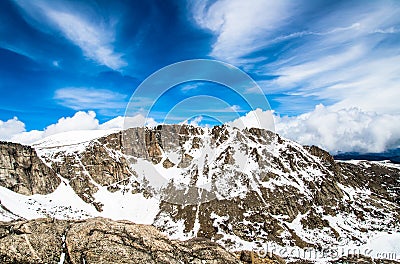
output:
<instances>
[{"instance_id":1,"label":"tan bare rock ledge in the bottom left foreground","mask_svg":"<svg viewBox=\"0 0 400 264\"><path fill-rule=\"evenodd\" d=\"M0 222L1 263L242 263L205 239L169 240L128 221Z\"/></svg>"}]
</instances>

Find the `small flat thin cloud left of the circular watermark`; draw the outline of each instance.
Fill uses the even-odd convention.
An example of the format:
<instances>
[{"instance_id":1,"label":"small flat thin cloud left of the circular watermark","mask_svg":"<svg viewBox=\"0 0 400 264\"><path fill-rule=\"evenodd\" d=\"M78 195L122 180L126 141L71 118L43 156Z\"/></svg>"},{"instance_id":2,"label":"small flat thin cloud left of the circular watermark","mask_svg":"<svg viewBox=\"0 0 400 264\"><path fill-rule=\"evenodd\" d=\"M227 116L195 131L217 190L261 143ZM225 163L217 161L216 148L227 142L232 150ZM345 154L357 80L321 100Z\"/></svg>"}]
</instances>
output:
<instances>
[{"instance_id":1,"label":"small flat thin cloud left of the circular watermark","mask_svg":"<svg viewBox=\"0 0 400 264\"><path fill-rule=\"evenodd\" d=\"M110 90L86 87L65 87L54 94L59 104L74 110L120 110L126 107L125 98L126 95Z\"/></svg>"}]
</instances>

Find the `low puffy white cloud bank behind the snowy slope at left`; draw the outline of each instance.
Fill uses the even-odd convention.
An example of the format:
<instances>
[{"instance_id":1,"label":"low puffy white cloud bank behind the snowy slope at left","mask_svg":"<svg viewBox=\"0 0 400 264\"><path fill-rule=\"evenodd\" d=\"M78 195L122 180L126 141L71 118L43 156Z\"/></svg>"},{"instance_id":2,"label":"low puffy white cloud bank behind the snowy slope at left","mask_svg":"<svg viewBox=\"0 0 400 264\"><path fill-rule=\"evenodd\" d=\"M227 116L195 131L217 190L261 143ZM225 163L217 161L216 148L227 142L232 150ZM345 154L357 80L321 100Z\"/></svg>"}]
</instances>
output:
<instances>
[{"instance_id":1,"label":"low puffy white cloud bank behind the snowy slope at left","mask_svg":"<svg viewBox=\"0 0 400 264\"><path fill-rule=\"evenodd\" d=\"M32 144L48 136L68 131L121 130L143 125L155 126L157 122L154 119L146 119L143 115L137 114L128 118L118 116L100 124L94 111L79 111L72 117L60 118L57 123L47 126L44 130L25 131L25 124L17 118L6 122L0 120L0 139L21 144Z\"/></svg>"}]
</instances>

